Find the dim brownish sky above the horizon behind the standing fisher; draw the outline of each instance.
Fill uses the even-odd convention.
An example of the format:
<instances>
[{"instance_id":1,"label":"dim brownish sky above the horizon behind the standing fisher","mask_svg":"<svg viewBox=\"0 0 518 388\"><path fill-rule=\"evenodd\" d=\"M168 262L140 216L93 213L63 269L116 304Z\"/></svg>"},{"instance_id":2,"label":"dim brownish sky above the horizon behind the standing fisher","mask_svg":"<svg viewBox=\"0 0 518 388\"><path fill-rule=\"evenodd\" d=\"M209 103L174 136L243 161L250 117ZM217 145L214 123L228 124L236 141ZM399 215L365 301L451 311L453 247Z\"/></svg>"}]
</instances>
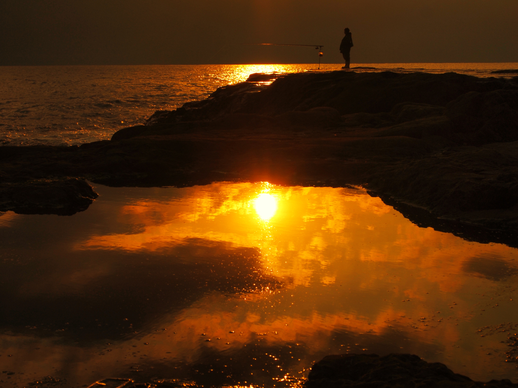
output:
<instances>
[{"instance_id":1,"label":"dim brownish sky above the horizon behind the standing fisher","mask_svg":"<svg viewBox=\"0 0 518 388\"><path fill-rule=\"evenodd\" d=\"M517 0L0 0L0 65L518 62Z\"/></svg>"}]
</instances>

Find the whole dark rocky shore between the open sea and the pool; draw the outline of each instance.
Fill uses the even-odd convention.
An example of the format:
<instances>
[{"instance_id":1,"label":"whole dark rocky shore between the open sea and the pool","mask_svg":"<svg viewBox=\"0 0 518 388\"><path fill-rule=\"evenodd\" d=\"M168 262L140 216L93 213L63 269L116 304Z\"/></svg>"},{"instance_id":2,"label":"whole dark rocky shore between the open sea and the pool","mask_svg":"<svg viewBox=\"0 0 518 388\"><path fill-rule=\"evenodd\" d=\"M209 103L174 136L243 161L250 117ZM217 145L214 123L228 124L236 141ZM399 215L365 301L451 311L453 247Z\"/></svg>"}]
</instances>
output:
<instances>
[{"instance_id":1,"label":"whole dark rocky shore between the open sea and the pool","mask_svg":"<svg viewBox=\"0 0 518 388\"><path fill-rule=\"evenodd\" d=\"M266 85L268 78L276 80ZM73 214L79 181L366 187L430 219L518 230L518 77L329 71L217 89L110 141L2 147L0 211ZM88 184L87 184L88 185ZM31 191L31 195L27 192Z\"/></svg>"}]
</instances>

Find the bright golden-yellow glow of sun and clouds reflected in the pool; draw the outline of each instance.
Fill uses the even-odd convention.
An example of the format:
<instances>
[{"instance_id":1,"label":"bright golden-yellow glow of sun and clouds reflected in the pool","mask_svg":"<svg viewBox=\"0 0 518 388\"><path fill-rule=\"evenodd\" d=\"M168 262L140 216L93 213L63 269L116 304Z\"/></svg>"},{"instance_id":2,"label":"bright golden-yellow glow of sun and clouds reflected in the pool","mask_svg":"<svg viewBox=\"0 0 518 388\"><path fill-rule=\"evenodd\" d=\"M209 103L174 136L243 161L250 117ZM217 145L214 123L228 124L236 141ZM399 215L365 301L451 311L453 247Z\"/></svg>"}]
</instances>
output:
<instances>
[{"instance_id":1,"label":"bright golden-yellow glow of sun and clouds reflected in the pool","mask_svg":"<svg viewBox=\"0 0 518 388\"><path fill-rule=\"evenodd\" d=\"M294 285L309 285L315 276L324 285L336 284L339 274L359 260L421 268L423 278L442 292L455 292L466 281L443 276L444 271L464 272L463 260L449 257L499 257L508 250L419 228L379 198L354 189L218 183L184 188L181 198L135 200L118 213L115 218L134 225L134 232L93 234L77 241L75 249L152 253L196 238L256 247L263 265ZM362 288L378 282L372 276L358 277ZM419 288L405 292L422 297Z\"/></svg>"}]
</instances>

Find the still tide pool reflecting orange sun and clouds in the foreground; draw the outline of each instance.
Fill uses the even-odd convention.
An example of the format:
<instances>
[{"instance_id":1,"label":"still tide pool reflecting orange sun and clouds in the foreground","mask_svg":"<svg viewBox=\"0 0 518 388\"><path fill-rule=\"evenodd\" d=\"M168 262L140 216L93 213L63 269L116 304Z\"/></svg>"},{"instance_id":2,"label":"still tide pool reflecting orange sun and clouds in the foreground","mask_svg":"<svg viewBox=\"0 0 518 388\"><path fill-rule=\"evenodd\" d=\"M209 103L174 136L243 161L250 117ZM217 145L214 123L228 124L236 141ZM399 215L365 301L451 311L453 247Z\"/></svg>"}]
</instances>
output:
<instances>
[{"instance_id":1,"label":"still tide pool reflecting orange sun and clouds in the foreground","mask_svg":"<svg viewBox=\"0 0 518 388\"><path fill-rule=\"evenodd\" d=\"M71 217L0 217L2 386L284 386L346 352L518 380L515 248L419 228L363 190L96 190Z\"/></svg>"}]
</instances>

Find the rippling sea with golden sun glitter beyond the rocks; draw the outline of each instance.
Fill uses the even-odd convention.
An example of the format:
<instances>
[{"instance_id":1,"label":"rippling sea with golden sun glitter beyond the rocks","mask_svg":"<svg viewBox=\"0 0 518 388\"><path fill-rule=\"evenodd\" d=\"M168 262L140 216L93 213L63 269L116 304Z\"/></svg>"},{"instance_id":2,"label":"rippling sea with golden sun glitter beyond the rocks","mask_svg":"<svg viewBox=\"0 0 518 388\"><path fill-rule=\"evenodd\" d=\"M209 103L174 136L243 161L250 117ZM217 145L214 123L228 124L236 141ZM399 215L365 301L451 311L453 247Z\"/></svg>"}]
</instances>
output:
<instances>
[{"instance_id":1,"label":"rippling sea with golden sun glitter beyond the rocks","mask_svg":"<svg viewBox=\"0 0 518 388\"><path fill-rule=\"evenodd\" d=\"M0 145L70 146L110 139L157 110L206 98L256 72L340 70L342 64L0 67ZM518 63L354 64L354 71L455 71L511 77Z\"/></svg>"}]
</instances>

